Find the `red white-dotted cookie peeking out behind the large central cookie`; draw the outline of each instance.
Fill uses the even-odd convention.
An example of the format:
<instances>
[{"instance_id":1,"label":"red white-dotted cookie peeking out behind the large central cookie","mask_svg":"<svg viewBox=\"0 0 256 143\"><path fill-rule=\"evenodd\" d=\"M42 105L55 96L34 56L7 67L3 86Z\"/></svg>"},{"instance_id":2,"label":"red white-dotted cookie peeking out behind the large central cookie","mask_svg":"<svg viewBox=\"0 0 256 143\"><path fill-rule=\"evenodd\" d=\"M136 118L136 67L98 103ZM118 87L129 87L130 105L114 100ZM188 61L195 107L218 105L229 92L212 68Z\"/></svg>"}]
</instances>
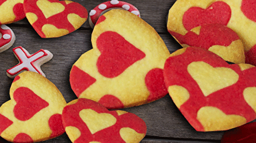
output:
<instances>
[{"instance_id":1,"label":"red white-dotted cookie peeking out behind the large central cookie","mask_svg":"<svg viewBox=\"0 0 256 143\"><path fill-rule=\"evenodd\" d=\"M99 19L99 17L105 12L110 11L112 9L127 10L140 17L139 10L133 5L126 2L122 2L122 1L112 0L112 1L104 2L90 11L89 13L90 26L93 28L97 20Z\"/></svg>"}]
</instances>

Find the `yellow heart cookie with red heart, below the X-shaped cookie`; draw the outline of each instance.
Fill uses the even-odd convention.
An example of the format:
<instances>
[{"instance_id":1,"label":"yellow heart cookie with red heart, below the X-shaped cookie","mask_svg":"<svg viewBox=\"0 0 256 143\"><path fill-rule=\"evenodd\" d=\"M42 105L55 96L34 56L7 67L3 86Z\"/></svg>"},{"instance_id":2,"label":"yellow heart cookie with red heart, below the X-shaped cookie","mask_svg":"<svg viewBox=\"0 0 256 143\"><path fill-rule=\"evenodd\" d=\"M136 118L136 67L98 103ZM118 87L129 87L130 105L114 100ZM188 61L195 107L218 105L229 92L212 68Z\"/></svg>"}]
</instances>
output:
<instances>
[{"instance_id":1,"label":"yellow heart cookie with red heart, below the X-shaped cookie","mask_svg":"<svg viewBox=\"0 0 256 143\"><path fill-rule=\"evenodd\" d=\"M17 75L11 100L0 107L0 135L11 142L37 142L61 135L61 113L67 105L55 85L31 71Z\"/></svg>"}]
</instances>

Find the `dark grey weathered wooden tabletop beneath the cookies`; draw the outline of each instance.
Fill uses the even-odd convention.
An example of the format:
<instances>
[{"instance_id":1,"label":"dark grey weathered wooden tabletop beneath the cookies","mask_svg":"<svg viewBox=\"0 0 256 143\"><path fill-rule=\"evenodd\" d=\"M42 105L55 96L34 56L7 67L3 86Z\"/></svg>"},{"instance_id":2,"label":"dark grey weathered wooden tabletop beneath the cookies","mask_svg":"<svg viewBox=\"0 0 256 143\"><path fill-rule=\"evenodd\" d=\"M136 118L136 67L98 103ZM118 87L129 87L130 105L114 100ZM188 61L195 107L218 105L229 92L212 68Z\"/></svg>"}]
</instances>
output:
<instances>
[{"instance_id":1,"label":"dark grey weathered wooden tabletop beneath the cookies","mask_svg":"<svg viewBox=\"0 0 256 143\"><path fill-rule=\"evenodd\" d=\"M74 2L84 6L89 13L97 5L105 1L75 0ZM166 28L168 10L176 2L175 0L126 0L125 2L139 9L141 18L155 28L171 53L180 48L180 45L167 32ZM51 39L40 38L26 18L16 23L8 24L8 26L15 33L16 41L11 48L0 53L0 104L2 105L10 100L9 90L13 79L6 75L6 70L18 64L12 52L12 48L18 46L23 46L29 53L35 53L39 49L51 51L53 59L41 66L42 71L56 85L67 102L76 99L77 97L70 87L69 73L72 65L80 55L92 49L91 34L93 30L89 26L88 20L75 32ZM135 113L145 121L147 134L141 141L143 143L220 142L223 135L223 131L197 132L181 115L169 95L149 104L123 110ZM0 142L8 141L0 138ZM59 137L42 142L70 143L71 141L67 134L64 133Z\"/></svg>"}]
</instances>

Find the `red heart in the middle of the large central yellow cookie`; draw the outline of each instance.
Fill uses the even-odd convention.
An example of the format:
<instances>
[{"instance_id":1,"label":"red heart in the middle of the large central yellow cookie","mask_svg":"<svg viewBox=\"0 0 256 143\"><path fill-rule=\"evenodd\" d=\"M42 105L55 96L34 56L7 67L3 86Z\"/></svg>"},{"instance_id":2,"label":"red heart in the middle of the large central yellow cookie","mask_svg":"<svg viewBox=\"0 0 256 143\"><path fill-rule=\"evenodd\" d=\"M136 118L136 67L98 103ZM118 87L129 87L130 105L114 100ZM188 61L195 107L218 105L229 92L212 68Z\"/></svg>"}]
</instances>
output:
<instances>
[{"instance_id":1,"label":"red heart in the middle of the large central yellow cookie","mask_svg":"<svg viewBox=\"0 0 256 143\"><path fill-rule=\"evenodd\" d=\"M145 53L115 32L104 32L97 39L101 52L97 67L105 77L116 77L135 62L145 58Z\"/></svg>"}]
</instances>

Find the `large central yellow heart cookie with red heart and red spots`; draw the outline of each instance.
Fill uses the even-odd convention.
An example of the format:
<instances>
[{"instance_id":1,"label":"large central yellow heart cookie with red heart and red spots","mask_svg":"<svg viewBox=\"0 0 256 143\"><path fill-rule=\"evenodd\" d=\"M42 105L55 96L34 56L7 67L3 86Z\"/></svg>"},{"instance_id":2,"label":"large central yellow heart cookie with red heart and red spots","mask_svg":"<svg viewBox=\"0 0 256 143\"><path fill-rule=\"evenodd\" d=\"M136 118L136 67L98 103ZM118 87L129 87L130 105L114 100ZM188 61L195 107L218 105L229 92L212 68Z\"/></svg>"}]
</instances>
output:
<instances>
[{"instance_id":1,"label":"large central yellow heart cookie with red heart and red spots","mask_svg":"<svg viewBox=\"0 0 256 143\"><path fill-rule=\"evenodd\" d=\"M162 69L169 51L138 16L125 10L105 13L94 27L92 45L71 69L70 84L77 97L123 108L167 94Z\"/></svg>"}]
</instances>

